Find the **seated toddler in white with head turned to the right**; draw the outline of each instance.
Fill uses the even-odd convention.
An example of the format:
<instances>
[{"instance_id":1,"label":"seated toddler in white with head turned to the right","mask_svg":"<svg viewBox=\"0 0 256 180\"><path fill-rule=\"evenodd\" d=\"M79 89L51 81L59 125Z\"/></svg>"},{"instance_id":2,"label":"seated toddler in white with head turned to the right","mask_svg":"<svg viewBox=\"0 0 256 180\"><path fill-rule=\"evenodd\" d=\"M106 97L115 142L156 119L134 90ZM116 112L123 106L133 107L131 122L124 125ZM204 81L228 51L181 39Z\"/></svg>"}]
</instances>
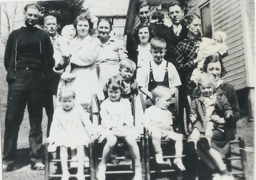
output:
<instances>
[{"instance_id":1,"label":"seated toddler in white with head turned to the right","mask_svg":"<svg viewBox=\"0 0 256 180\"><path fill-rule=\"evenodd\" d=\"M175 141L176 152L176 158L173 162L181 171L184 171L185 167L182 163L182 134L173 131L172 112L167 109L172 99L172 90L165 86L157 86L152 90L152 98L155 105L145 110L143 124L152 138L156 162L158 164L164 163L161 139L172 139Z\"/></svg>"}]
</instances>

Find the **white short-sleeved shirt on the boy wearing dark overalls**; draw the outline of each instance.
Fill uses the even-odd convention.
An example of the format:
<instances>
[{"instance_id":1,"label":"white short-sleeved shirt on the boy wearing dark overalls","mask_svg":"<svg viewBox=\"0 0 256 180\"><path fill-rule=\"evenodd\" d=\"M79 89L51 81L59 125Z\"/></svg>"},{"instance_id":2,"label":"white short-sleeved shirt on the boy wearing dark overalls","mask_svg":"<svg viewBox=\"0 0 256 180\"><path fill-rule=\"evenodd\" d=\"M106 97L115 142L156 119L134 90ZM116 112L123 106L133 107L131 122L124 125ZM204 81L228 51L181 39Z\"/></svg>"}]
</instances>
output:
<instances>
[{"instance_id":1,"label":"white short-sleeved shirt on the boy wearing dark overalls","mask_svg":"<svg viewBox=\"0 0 256 180\"><path fill-rule=\"evenodd\" d=\"M150 62L151 62L151 67L153 71L154 80L163 81L164 75L166 72L165 70L166 70L167 61L163 59L162 63L159 65L157 65L153 59ZM145 63L141 67L140 76L137 77L138 85L141 87L145 87L147 89L149 85L149 69L150 69L149 62ZM182 85L177 69L172 63L168 63L168 79L169 79L170 88Z\"/></svg>"}]
</instances>

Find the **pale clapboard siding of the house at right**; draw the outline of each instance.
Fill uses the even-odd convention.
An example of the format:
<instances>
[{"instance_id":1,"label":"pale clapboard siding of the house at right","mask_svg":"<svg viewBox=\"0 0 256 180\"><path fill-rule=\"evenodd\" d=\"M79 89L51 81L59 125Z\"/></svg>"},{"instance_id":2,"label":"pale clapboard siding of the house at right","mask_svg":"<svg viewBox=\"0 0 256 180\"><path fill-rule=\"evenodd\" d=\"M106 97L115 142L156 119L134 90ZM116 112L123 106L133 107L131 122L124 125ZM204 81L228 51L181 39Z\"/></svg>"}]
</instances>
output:
<instances>
[{"instance_id":1,"label":"pale clapboard siding of the house at right","mask_svg":"<svg viewBox=\"0 0 256 180\"><path fill-rule=\"evenodd\" d=\"M223 58L224 67L228 71L224 81L234 85L235 89L247 86L244 39L242 30L242 9L240 0L209 0L212 6L213 30L224 31L228 39L228 56ZM253 0L251 0L253 1ZM199 7L206 0L189 0L193 6L191 12L198 14ZM200 15L200 14L199 14Z\"/></svg>"}]
</instances>

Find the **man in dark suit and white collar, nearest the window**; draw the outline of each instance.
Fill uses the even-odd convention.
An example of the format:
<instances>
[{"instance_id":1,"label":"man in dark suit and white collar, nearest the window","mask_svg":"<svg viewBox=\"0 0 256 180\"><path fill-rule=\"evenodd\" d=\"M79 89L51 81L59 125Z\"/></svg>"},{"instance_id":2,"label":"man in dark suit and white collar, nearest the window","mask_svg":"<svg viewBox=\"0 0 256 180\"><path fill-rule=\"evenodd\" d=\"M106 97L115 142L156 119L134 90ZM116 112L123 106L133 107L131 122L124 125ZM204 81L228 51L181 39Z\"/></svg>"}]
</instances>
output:
<instances>
[{"instance_id":1,"label":"man in dark suit and white collar, nearest the window","mask_svg":"<svg viewBox=\"0 0 256 180\"><path fill-rule=\"evenodd\" d=\"M174 61L174 49L176 48L178 42L184 40L187 36L187 27L182 23L184 16L184 9L182 4L175 1L168 5L168 15L172 20L172 26L168 29L163 30L160 36L167 43L167 53L165 54L165 60L175 64Z\"/></svg>"}]
</instances>

